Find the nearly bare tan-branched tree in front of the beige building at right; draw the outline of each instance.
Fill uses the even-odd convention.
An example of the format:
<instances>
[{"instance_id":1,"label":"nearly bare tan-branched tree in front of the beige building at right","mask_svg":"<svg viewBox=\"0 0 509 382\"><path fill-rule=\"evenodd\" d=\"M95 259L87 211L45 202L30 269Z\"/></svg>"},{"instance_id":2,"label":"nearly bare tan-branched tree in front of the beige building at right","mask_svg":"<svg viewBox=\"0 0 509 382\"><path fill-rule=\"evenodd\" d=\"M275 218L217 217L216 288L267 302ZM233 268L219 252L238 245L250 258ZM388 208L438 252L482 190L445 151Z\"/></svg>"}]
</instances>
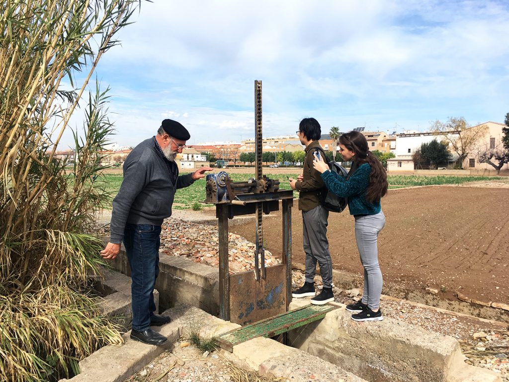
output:
<instances>
[{"instance_id":1,"label":"nearly bare tan-branched tree in front of the beige building at right","mask_svg":"<svg viewBox=\"0 0 509 382\"><path fill-rule=\"evenodd\" d=\"M458 154L458 165L461 168L465 158L477 146L479 139L486 132L487 126L471 127L463 117L449 117L445 123L435 121L431 130L443 133L445 140L450 143L453 150Z\"/></svg>"}]
</instances>

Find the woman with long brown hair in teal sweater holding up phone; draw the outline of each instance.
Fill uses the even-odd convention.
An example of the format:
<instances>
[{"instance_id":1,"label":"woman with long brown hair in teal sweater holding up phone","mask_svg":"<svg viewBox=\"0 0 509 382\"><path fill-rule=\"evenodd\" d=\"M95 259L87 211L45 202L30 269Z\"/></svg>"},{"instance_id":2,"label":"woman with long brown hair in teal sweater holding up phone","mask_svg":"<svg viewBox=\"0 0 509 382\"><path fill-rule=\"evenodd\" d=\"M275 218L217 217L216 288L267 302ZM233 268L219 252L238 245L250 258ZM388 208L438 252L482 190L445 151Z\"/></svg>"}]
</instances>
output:
<instances>
[{"instance_id":1,"label":"woman with long brown hair in teal sweater holding up phone","mask_svg":"<svg viewBox=\"0 0 509 382\"><path fill-rule=\"evenodd\" d=\"M337 196L348 198L350 214L355 218L355 240L364 267L362 299L347 305L355 321L381 321L380 294L382 272L378 263L377 238L385 225L380 199L387 193L387 174L380 160L369 150L364 135L350 131L340 137L340 152L352 167L346 178L330 171L323 158L313 166L322 174L325 186Z\"/></svg>"}]
</instances>

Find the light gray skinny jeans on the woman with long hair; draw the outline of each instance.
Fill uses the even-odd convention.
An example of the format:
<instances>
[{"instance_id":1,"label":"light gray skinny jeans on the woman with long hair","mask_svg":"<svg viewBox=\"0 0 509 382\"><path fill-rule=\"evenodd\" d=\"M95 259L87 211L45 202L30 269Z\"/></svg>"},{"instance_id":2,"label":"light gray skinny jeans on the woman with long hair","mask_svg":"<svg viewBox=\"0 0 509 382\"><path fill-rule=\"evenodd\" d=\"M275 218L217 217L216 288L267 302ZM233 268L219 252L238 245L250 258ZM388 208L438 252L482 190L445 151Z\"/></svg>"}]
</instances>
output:
<instances>
[{"instance_id":1,"label":"light gray skinny jeans on the woman with long hair","mask_svg":"<svg viewBox=\"0 0 509 382\"><path fill-rule=\"evenodd\" d=\"M364 267L364 292L362 303L373 310L380 307L382 294L382 271L378 263L378 234L385 225L382 211L376 215L355 217L355 240L359 249L360 262Z\"/></svg>"}]
</instances>

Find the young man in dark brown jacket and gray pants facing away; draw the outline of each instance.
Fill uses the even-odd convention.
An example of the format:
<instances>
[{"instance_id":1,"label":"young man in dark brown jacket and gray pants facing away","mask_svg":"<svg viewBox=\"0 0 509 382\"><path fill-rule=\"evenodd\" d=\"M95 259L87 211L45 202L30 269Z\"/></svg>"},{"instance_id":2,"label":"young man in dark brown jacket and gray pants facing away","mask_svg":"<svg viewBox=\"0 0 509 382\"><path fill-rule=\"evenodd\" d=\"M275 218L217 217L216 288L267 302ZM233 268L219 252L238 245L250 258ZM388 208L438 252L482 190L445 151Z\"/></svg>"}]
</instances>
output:
<instances>
[{"instance_id":1,"label":"young man in dark brown jacket and gray pants facing away","mask_svg":"<svg viewBox=\"0 0 509 382\"><path fill-rule=\"evenodd\" d=\"M321 127L315 118L304 118L300 121L297 136L306 148L302 175L297 179L289 178L292 189L299 191L299 210L302 211L302 241L306 254L306 275L302 287L292 292L292 297L312 296L311 304L324 305L334 301L332 293L332 260L327 240L327 211L320 202L319 192L323 187L321 173L313 167L315 154L324 155L320 146ZM315 296L316 266L320 266L323 289Z\"/></svg>"}]
</instances>

